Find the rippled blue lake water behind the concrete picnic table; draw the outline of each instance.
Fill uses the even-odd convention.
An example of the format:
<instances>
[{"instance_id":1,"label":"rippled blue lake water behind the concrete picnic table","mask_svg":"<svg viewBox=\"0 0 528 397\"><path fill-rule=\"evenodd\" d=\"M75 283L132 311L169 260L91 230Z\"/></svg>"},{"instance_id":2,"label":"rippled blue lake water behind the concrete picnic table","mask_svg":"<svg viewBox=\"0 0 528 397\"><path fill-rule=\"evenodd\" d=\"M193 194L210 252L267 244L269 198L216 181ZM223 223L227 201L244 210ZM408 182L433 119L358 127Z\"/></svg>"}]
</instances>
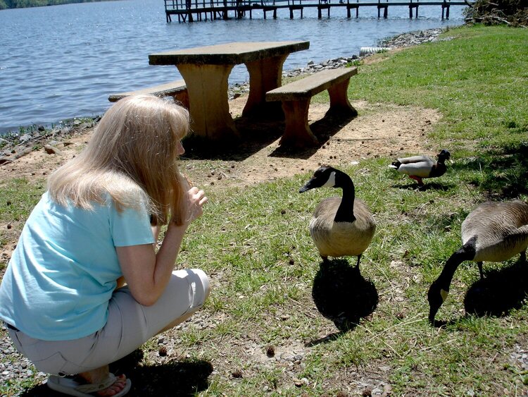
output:
<instances>
[{"instance_id":1,"label":"rippled blue lake water behind the concrete picnic table","mask_svg":"<svg viewBox=\"0 0 528 397\"><path fill-rule=\"evenodd\" d=\"M419 18L408 18L405 6L389 6L389 18L378 19L376 7L363 7L360 18L332 8L330 18L317 18L306 8L303 18L288 10L264 20L165 22L161 0L103 1L0 11L0 133L19 126L103 114L108 94L166 83L181 78L174 66L149 66L148 55L230 41L309 40L310 49L291 54L284 69L359 54L360 47L414 30L463 24L462 6L451 6L441 20L440 6L420 7ZM355 15L353 13L353 15ZM236 66L230 83L249 75Z\"/></svg>"}]
</instances>

